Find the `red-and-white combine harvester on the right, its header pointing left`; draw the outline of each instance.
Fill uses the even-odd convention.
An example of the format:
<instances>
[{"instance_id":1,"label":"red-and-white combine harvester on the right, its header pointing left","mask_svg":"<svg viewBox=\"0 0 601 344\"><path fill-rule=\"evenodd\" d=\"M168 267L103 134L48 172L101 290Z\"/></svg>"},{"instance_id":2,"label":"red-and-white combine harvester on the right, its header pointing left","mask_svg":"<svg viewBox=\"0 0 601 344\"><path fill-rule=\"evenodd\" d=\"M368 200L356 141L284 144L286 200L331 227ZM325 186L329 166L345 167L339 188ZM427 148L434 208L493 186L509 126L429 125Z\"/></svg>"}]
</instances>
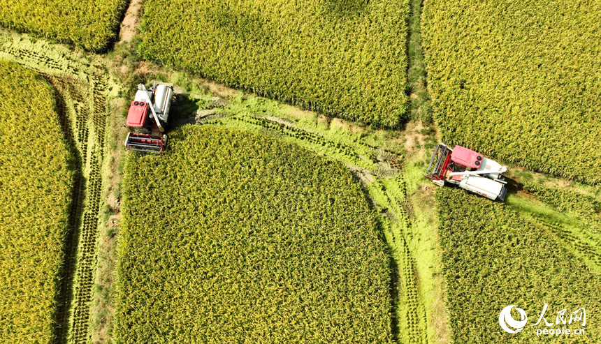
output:
<instances>
[{"instance_id":1,"label":"red-and-white combine harvester on the right, its header pointing left","mask_svg":"<svg viewBox=\"0 0 601 344\"><path fill-rule=\"evenodd\" d=\"M445 183L459 186L491 200L505 201L507 181L501 174L507 167L484 158L482 154L461 146L450 149L438 144L430 158L430 164L424 177L437 186Z\"/></svg>"}]
</instances>

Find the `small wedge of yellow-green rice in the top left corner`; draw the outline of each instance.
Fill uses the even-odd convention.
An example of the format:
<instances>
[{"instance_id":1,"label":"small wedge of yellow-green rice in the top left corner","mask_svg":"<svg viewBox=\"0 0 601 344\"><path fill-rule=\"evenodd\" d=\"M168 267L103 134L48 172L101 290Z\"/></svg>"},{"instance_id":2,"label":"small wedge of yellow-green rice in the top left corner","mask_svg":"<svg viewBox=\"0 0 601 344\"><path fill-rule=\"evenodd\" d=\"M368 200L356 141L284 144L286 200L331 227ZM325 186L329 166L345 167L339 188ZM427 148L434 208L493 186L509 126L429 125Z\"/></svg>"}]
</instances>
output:
<instances>
[{"instance_id":1,"label":"small wedge of yellow-green rice in the top left corner","mask_svg":"<svg viewBox=\"0 0 601 344\"><path fill-rule=\"evenodd\" d=\"M0 0L0 25L86 50L104 50L129 1Z\"/></svg>"}]
</instances>

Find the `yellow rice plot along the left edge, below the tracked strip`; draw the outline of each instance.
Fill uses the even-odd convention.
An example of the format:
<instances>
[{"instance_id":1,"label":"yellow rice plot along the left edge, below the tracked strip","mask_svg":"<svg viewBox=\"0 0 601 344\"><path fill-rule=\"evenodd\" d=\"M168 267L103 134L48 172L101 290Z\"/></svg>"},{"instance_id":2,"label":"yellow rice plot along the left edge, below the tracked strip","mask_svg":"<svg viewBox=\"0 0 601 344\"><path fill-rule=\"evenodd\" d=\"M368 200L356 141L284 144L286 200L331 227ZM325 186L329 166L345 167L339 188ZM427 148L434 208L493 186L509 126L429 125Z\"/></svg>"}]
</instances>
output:
<instances>
[{"instance_id":1,"label":"yellow rice plot along the left edge, below the tracked strip","mask_svg":"<svg viewBox=\"0 0 601 344\"><path fill-rule=\"evenodd\" d=\"M52 343L72 172L52 87L0 60L0 338Z\"/></svg>"}]
</instances>

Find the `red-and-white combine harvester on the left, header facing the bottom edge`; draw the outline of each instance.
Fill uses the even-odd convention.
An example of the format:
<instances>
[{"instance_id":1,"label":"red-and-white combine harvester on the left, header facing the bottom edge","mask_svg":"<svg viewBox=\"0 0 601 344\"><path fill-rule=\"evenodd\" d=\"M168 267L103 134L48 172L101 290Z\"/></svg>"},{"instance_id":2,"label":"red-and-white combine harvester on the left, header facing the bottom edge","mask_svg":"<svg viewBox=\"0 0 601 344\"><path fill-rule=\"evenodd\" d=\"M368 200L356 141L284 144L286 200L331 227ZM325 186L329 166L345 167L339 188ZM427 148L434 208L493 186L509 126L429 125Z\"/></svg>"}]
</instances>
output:
<instances>
[{"instance_id":1,"label":"red-and-white combine harvester on the left, header facing the bottom edge","mask_svg":"<svg viewBox=\"0 0 601 344\"><path fill-rule=\"evenodd\" d=\"M174 98L173 84L154 82L146 90L138 84L136 97L133 98L127 112L125 125L129 133L125 139L128 151L162 153L167 144L165 126Z\"/></svg>"}]
</instances>

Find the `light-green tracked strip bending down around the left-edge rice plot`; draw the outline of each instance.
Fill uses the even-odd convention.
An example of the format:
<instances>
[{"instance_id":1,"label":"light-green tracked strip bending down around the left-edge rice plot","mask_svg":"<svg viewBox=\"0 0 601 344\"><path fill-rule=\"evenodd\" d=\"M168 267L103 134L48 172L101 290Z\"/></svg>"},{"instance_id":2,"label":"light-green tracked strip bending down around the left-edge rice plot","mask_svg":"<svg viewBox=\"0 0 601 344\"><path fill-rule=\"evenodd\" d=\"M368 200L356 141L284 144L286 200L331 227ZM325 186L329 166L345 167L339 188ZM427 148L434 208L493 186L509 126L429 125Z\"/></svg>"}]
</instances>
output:
<instances>
[{"instance_id":1,"label":"light-green tracked strip bending down around the left-edge rice plot","mask_svg":"<svg viewBox=\"0 0 601 344\"><path fill-rule=\"evenodd\" d=\"M71 228L57 296L55 343L87 343L103 183L101 165L106 151L106 73L101 66L79 61L68 51L18 36L0 36L0 58L37 70L57 92L61 125L75 156L76 172Z\"/></svg>"}]
</instances>

